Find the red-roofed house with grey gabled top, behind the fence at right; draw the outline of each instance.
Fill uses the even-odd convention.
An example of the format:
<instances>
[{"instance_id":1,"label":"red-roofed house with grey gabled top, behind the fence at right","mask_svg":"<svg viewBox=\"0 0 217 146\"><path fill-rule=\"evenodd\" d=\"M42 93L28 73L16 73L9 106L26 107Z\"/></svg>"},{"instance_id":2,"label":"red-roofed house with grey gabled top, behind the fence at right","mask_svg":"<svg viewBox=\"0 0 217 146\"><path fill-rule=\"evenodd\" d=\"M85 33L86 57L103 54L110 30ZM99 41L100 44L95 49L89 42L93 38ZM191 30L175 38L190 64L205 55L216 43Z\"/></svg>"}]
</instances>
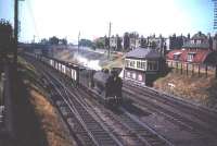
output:
<instances>
[{"instance_id":1,"label":"red-roofed house with grey gabled top, behind the fence at right","mask_svg":"<svg viewBox=\"0 0 217 146\"><path fill-rule=\"evenodd\" d=\"M174 49L166 56L168 65L182 63L187 64L213 64L210 57L215 59L216 51L213 50L213 40L210 36L206 36L201 32L196 33L189 39L181 49ZM212 63L213 62L213 63ZM213 64L215 65L215 64Z\"/></svg>"}]
</instances>

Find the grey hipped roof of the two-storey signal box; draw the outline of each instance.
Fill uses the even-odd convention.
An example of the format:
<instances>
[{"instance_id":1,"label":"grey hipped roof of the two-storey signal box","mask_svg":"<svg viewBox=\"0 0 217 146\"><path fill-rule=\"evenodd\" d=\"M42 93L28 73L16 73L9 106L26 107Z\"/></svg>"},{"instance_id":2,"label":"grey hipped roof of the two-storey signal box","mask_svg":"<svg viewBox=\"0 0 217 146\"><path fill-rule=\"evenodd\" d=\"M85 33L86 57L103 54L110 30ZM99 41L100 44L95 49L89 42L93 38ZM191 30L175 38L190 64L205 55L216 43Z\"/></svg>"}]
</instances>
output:
<instances>
[{"instance_id":1,"label":"grey hipped roof of the two-storey signal box","mask_svg":"<svg viewBox=\"0 0 217 146\"><path fill-rule=\"evenodd\" d=\"M136 48L126 54L126 58L138 58L138 59L158 59L161 53L151 48Z\"/></svg>"}]
</instances>

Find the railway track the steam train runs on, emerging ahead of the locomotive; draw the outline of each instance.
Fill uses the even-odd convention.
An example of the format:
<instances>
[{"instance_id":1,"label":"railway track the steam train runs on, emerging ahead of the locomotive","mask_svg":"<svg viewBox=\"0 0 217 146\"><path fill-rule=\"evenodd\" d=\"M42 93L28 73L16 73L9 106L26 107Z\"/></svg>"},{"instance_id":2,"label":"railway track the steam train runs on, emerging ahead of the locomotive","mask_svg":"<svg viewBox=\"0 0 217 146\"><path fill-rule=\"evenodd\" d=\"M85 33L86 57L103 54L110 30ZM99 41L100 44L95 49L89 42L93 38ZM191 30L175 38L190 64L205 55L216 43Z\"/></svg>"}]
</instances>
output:
<instances>
[{"instance_id":1,"label":"railway track the steam train runs on, emerging ahead of the locomotive","mask_svg":"<svg viewBox=\"0 0 217 146\"><path fill-rule=\"evenodd\" d=\"M85 94L85 97L88 97L89 95L89 98L100 98L99 95L92 93L87 88L88 87L80 86L80 94ZM108 112L113 121L122 124L122 126L124 126L126 131L129 131L129 133L136 136L138 138L137 141L139 142L138 144L141 144L142 146L173 146L173 144L168 139L164 138L161 134L152 130L149 125L138 120L137 117L128 112L125 108L122 107L115 110L118 110L118 114L114 114L114 112L111 113L110 111L106 112Z\"/></svg>"}]
</instances>

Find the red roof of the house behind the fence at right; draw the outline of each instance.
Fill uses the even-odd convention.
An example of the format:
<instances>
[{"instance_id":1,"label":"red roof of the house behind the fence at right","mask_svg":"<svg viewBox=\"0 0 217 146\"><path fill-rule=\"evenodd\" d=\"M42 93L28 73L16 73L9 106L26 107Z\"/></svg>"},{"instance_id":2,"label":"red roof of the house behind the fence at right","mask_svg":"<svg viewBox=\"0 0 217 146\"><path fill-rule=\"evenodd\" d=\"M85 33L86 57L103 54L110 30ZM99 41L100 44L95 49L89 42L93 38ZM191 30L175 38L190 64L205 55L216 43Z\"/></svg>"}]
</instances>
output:
<instances>
[{"instance_id":1,"label":"red roof of the house behind the fence at right","mask_svg":"<svg viewBox=\"0 0 217 146\"><path fill-rule=\"evenodd\" d=\"M175 60L174 59L174 54L176 53L180 53L180 57L178 58L178 60L176 61L180 61L180 62L188 62L188 54L194 54L193 60L191 61L192 63L203 63L207 56L212 52L210 50L202 50L202 49L177 49L177 50L173 50L170 52L168 52L166 54L166 59L167 60Z\"/></svg>"}]
</instances>

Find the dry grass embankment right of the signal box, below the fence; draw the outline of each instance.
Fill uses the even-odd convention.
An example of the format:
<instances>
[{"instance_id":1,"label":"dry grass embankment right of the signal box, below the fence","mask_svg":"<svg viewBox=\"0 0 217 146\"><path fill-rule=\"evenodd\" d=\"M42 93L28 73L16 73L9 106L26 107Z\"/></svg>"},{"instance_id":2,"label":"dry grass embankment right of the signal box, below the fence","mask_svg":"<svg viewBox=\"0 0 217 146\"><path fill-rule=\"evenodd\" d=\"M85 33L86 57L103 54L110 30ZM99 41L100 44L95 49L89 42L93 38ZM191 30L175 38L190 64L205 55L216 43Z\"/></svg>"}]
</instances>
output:
<instances>
[{"instance_id":1,"label":"dry grass embankment right of the signal box, below the fence","mask_svg":"<svg viewBox=\"0 0 217 146\"><path fill-rule=\"evenodd\" d=\"M169 83L174 87L169 87ZM168 73L154 83L154 87L184 99L217 109L217 80L214 76L192 76Z\"/></svg>"}]
</instances>

